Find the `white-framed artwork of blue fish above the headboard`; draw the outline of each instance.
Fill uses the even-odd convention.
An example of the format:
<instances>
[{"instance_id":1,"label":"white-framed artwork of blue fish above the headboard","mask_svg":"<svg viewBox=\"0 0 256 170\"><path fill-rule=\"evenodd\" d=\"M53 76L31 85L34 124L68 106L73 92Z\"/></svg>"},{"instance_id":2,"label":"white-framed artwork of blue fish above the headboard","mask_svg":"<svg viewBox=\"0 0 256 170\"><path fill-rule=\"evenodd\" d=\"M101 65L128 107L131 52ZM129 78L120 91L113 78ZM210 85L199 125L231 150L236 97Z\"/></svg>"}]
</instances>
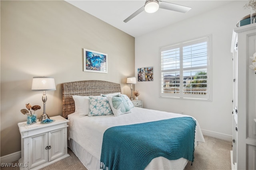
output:
<instances>
[{"instance_id":1,"label":"white-framed artwork of blue fish above the headboard","mask_svg":"<svg viewBox=\"0 0 256 170\"><path fill-rule=\"evenodd\" d=\"M108 55L84 49L84 71L108 73Z\"/></svg>"}]
</instances>

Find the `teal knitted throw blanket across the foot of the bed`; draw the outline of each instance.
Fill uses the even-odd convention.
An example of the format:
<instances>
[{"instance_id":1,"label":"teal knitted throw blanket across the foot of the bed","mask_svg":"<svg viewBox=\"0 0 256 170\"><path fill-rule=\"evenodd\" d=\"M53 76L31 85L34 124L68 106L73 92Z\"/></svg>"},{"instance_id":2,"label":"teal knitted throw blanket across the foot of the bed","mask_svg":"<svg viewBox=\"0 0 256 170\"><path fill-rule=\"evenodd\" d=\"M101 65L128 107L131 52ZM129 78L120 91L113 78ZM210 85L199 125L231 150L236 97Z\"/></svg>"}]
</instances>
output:
<instances>
[{"instance_id":1,"label":"teal knitted throw blanket across the foot of the bed","mask_svg":"<svg viewBox=\"0 0 256 170\"><path fill-rule=\"evenodd\" d=\"M143 170L159 156L193 162L195 128L192 117L110 127L103 135L100 169Z\"/></svg>"}]
</instances>

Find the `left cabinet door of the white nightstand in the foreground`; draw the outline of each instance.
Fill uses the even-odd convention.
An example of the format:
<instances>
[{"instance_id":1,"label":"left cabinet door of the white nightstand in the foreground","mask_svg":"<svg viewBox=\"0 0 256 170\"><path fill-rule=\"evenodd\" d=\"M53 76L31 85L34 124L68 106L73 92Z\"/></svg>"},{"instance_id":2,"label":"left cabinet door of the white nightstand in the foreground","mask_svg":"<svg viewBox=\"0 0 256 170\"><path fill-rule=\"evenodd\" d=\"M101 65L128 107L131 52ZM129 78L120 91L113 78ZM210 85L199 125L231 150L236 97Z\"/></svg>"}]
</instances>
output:
<instances>
[{"instance_id":1,"label":"left cabinet door of the white nightstand in the foreground","mask_svg":"<svg viewBox=\"0 0 256 170\"><path fill-rule=\"evenodd\" d=\"M28 138L28 169L48 162L48 133Z\"/></svg>"}]
</instances>

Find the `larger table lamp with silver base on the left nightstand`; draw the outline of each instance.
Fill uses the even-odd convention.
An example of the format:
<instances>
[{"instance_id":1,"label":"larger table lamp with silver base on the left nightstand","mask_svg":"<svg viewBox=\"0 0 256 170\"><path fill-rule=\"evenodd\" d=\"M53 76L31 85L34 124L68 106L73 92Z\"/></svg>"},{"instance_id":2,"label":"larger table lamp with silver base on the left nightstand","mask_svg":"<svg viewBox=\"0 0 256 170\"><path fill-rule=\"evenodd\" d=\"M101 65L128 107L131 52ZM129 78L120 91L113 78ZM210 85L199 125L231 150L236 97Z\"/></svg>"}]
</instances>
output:
<instances>
[{"instance_id":1,"label":"larger table lamp with silver base on the left nightstand","mask_svg":"<svg viewBox=\"0 0 256 170\"><path fill-rule=\"evenodd\" d=\"M49 119L50 117L46 114L45 104L47 100L46 91L56 90L55 81L52 77L33 77L32 81L32 90L33 91L43 91L42 101L44 103L44 112L39 118L39 121Z\"/></svg>"}]
</instances>

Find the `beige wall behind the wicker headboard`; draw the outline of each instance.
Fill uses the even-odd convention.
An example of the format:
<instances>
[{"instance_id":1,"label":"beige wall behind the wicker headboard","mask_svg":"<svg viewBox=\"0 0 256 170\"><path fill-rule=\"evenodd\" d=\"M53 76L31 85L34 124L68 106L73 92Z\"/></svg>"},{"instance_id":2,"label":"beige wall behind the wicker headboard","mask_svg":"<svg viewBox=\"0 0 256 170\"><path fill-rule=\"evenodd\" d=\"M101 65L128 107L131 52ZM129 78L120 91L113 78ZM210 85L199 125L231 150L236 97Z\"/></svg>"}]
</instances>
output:
<instances>
[{"instance_id":1,"label":"beige wall behind the wicker headboard","mask_svg":"<svg viewBox=\"0 0 256 170\"><path fill-rule=\"evenodd\" d=\"M65 1L0 1L1 156L21 150L18 122L26 103L42 104L32 92L33 76L53 76L56 91L46 95L46 113L62 114L62 82L106 80L121 84L134 76L134 37ZM82 49L108 54L108 73L83 72ZM43 110L36 111L40 116Z\"/></svg>"}]
</instances>

